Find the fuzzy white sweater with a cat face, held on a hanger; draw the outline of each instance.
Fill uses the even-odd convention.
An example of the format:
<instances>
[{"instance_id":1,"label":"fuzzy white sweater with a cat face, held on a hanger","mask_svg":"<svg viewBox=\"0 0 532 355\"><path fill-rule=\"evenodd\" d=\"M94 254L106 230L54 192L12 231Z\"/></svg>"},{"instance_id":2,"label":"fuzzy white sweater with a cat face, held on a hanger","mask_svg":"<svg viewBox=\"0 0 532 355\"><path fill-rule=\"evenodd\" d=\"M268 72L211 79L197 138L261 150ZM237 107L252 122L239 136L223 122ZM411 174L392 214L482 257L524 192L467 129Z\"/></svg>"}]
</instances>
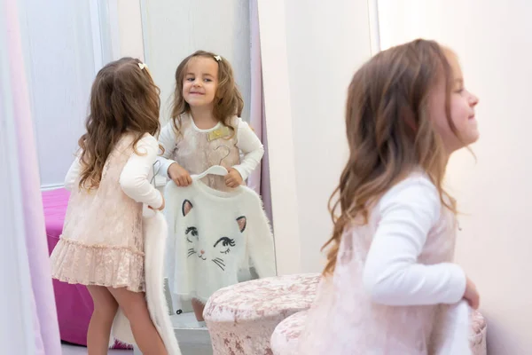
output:
<instances>
[{"instance_id":1,"label":"fuzzy white sweater with a cat face, held on a hanger","mask_svg":"<svg viewBox=\"0 0 532 355\"><path fill-rule=\"evenodd\" d=\"M259 277L276 274L273 235L257 193L240 186L211 189L200 180L165 189L167 275L173 297L207 302L217 289L239 282L254 266Z\"/></svg>"}]
</instances>

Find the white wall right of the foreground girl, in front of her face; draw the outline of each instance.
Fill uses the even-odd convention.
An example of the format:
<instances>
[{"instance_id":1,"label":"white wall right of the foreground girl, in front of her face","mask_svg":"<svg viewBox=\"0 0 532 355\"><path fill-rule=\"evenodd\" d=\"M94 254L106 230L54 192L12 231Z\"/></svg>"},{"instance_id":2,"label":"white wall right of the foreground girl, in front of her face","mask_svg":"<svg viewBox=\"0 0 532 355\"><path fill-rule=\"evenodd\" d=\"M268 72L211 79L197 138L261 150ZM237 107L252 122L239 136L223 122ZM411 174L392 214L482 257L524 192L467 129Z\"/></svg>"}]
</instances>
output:
<instances>
[{"instance_id":1,"label":"white wall right of the foreground girl, in front of her face","mask_svg":"<svg viewBox=\"0 0 532 355\"><path fill-rule=\"evenodd\" d=\"M458 262L481 292L491 355L532 353L530 13L525 0L379 0L383 49L418 36L448 44L481 99L478 161L460 152L448 175L464 212Z\"/></svg>"}]
</instances>

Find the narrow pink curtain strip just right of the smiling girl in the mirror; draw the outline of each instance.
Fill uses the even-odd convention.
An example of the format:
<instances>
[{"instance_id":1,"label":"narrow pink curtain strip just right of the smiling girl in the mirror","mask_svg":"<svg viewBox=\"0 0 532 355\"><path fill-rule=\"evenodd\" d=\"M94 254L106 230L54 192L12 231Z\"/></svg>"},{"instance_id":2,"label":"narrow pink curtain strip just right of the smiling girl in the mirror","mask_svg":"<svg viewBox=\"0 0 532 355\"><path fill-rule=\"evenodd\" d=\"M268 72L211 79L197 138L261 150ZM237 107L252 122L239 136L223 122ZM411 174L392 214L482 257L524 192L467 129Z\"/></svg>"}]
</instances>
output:
<instances>
[{"instance_id":1,"label":"narrow pink curtain strip just right of the smiling girl in the mirror","mask_svg":"<svg viewBox=\"0 0 532 355\"><path fill-rule=\"evenodd\" d=\"M268 138L266 137L266 117L264 115L264 102L262 100L261 38L259 35L257 0L251 0L249 2L249 27L251 33L251 101L249 124L257 136L261 138L265 153L261 166L254 170L248 178L248 185L256 193L262 195L264 209L271 220L270 165L268 159Z\"/></svg>"}]
</instances>

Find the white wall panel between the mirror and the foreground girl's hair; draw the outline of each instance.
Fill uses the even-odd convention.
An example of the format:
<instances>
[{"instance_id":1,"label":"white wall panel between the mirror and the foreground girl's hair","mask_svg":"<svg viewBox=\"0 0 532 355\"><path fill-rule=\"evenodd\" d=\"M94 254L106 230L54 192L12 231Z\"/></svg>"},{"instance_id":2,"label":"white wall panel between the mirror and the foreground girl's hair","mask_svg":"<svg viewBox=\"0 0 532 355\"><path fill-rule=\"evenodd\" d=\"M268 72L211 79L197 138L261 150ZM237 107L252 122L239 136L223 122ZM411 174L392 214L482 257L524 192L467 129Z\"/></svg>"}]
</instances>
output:
<instances>
[{"instance_id":1,"label":"white wall panel between the mirror and the foreground girl's hair","mask_svg":"<svg viewBox=\"0 0 532 355\"><path fill-rule=\"evenodd\" d=\"M368 7L366 0L285 4L292 106L292 122L286 124L293 125L301 271L321 272L320 248L332 233L327 201L348 158L344 123L348 83L371 56ZM267 96L266 100L268 122L271 103ZM282 177L280 171L271 174ZM272 202L275 209L276 201Z\"/></svg>"}]
</instances>

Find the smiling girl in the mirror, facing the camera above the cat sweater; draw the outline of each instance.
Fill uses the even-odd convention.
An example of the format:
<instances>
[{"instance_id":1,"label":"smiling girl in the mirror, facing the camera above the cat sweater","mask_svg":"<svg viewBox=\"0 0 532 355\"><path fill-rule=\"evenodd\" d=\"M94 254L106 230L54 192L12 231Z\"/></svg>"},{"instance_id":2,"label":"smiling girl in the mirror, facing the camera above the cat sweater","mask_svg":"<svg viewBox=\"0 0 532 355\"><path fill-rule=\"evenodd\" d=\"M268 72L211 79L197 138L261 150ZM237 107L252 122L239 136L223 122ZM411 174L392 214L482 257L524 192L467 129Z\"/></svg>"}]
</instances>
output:
<instances>
[{"instance_id":1,"label":"smiling girl in the mirror, facing the camera above the cat sweater","mask_svg":"<svg viewBox=\"0 0 532 355\"><path fill-rule=\"evenodd\" d=\"M243 106L226 59L207 51L185 58L176 69L172 120L160 132L160 173L187 186L191 174L223 165L227 176L208 175L202 181L222 191L242 184L264 154L260 139L239 117Z\"/></svg>"}]
</instances>

